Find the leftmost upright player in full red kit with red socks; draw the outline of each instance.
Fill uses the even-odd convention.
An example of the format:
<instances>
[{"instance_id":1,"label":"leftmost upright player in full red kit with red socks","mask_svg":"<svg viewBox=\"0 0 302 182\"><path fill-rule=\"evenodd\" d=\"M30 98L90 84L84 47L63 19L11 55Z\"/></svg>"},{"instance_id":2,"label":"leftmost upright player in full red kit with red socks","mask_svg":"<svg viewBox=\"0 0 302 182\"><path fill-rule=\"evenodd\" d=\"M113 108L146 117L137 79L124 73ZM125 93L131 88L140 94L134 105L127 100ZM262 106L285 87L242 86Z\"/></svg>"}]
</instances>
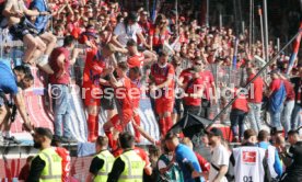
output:
<instances>
[{"instance_id":1,"label":"leftmost upright player in full red kit with red socks","mask_svg":"<svg viewBox=\"0 0 302 182\"><path fill-rule=\"evenodd\" d=\"M114 50L109 46L104 46L102 50L97 48L86 49L86 60L83 73L84 104L88 107L89 141L95 141L98 136L98 112L101 106L101 84L107 82L102 79L105 76L106 61Z\"/></svg>"}]
</instances>

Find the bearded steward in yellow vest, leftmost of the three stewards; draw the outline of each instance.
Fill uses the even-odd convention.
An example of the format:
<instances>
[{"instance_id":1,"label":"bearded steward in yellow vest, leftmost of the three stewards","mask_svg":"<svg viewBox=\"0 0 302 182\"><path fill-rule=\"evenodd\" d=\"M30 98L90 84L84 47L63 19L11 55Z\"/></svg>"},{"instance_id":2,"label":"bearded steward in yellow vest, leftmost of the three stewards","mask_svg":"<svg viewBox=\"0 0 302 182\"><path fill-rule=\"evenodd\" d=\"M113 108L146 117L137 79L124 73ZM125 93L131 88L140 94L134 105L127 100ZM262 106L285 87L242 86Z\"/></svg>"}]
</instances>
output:
<instances>
[{"instance_id":1,"label":"bearded steward in yellow vest, leftmost of the three stewards","mask_svg":"<svg viewBox=\"0 0 302 182\"><path fill-rule=\"evenodd\" d=\"M39 149L32 160L27 182L61 182L61 157L50 146L53 133L48 128L35 128L34 147Z\"/></svg>"}]
</instances>

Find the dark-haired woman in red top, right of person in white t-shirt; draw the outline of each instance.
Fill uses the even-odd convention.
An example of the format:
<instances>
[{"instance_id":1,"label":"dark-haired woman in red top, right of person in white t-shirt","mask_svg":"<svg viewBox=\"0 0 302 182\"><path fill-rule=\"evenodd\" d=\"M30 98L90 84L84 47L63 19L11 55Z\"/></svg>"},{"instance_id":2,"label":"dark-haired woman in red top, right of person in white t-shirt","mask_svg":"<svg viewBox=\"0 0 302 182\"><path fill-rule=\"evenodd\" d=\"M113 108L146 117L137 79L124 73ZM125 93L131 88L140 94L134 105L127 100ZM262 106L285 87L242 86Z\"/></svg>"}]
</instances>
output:
<instances>
[{"instance_id":1,"label":"dark-haired woman in red top, right of person in white t-shirt","mask_svg":"<svg viewBox=\"0 0 302 182\"><path fill-rule=\"evenodd\" d=\"M166 19L163 14L159 14L155 24L150 30L150 45L151 50L159 50L162 48L163 43L167 42L170 38L169 31L166 29Z\"/></svg>"}]
</instances>

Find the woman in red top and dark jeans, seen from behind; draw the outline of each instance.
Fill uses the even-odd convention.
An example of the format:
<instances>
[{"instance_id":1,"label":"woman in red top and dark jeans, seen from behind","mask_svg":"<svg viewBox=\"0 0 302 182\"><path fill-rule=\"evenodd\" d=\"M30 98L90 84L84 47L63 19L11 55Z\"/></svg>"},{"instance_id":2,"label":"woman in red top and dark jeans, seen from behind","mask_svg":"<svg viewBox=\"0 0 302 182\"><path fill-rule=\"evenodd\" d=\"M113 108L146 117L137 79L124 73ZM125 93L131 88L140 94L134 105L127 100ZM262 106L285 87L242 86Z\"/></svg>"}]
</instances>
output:
<instances>
[{"instance_id":1,"label":"woman in red top and dark jeans, seen from behind","mask_svg":"<svg viewBox=\"0 0 302 182\"><path fill-rule=\"evenodd\" d=\"M235 88L233 90L233 93L232 93L233 96L236 96L236 94L240 94L240 95L232 104L232 110L230 114L231 129L234 136L233 141L235 143L243 137L244 118L248 113L248 106L247 106L247 100L246 100L247 95L240 93L240 91L241 89L239 88ZM237 125L239 125L239 133L237 133Z\"/></svg>"}]
</instances>

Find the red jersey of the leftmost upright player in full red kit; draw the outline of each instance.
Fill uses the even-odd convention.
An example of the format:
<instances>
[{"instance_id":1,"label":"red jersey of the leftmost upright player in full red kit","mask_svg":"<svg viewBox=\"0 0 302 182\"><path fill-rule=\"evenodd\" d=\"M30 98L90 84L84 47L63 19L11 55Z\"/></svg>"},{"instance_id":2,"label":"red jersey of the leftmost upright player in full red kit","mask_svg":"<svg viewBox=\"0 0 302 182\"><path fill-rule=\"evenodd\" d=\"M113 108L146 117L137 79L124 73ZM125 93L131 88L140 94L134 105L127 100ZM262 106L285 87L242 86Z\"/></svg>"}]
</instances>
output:
<instances>
[{"instance_id":1,"label":"red jersey of the leftmost upright player in full red kit","mask_svg":"<svg viewBox=\"0 0 302 182\"><path fill-rule=\"evenodd\" d=\"M106 68L105 58L96 48L88 48L83 73L83 88L100 88L100 78Z\"/></svg>"}]
</instances>

